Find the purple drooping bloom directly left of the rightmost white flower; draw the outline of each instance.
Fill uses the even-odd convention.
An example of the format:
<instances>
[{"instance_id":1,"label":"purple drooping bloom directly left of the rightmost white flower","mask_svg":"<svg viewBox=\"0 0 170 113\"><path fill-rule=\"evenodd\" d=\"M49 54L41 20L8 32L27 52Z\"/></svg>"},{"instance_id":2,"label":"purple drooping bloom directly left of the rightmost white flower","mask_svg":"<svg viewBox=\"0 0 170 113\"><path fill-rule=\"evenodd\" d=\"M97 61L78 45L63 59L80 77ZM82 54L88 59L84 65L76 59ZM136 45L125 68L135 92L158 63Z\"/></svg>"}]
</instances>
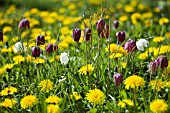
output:
<instances>
[{"instance_id":1,"label":"purple drooping bloom directly left of the rightmost white flower","mask_svg":"<svg viewBox=\"0 0 170 113\"><path fill-rule=\"evenodd\" d=\"M124 45L124 50L127 50L128 52L133 52L136 50L136 42L135 40L129 39L125 45Z\"/></svg>"}]
</instances>

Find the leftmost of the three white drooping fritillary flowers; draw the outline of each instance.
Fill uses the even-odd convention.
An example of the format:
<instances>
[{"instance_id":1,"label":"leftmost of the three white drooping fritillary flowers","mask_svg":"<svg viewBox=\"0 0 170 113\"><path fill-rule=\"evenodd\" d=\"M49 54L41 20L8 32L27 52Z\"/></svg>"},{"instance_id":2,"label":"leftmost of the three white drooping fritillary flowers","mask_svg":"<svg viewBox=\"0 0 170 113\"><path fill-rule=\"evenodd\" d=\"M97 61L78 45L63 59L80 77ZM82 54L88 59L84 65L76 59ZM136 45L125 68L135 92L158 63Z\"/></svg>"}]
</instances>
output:
<instances>
[{"instance_id":1,"label":"leftmost of the three white drooping fritillary flowers","mask_svg":"<svg viewBox=\"0 0 170 113\"><path fill-rule=\"evenodd\" d=\"M18 53L18 52L24 52L26 50L24 44L22 42L17 42L14 45L14 52Z\"/></svg>"}]
</instances>

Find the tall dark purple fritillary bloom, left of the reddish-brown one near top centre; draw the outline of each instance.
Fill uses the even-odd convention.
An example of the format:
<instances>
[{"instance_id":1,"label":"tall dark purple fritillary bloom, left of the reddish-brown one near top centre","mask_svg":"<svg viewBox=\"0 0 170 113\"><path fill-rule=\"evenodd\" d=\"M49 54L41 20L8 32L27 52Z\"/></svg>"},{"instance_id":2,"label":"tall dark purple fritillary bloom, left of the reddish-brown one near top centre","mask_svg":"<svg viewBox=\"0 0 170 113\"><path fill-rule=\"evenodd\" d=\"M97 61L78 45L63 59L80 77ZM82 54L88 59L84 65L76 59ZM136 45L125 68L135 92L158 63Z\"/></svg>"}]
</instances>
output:
<instances>
[{"instance_id":1,"label":"tall dark purple fritillary bloom, left of the reddish-brown one near top centre","mask_svg":"<svg viewBox=\"0 0 170 113\"><path fill-rule=\"evenodd\" d=\"M103 19L100 19L96 22L96 28L97 28L98 36L103 31L104 27L105 27L105 21Z\"/></svg>"}]
</instances>

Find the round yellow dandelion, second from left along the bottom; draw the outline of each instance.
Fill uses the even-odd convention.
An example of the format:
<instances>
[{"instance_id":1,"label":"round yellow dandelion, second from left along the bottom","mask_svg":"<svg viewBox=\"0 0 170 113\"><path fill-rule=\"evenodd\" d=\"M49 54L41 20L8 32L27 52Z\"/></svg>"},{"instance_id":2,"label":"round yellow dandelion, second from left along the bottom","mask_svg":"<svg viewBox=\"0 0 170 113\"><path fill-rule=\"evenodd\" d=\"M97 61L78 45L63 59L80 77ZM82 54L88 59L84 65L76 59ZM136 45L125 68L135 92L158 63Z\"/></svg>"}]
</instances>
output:
<instances>
[{"instance_id":1,"label":"round yellow dandelion, second from left along the bottom","mask_svg":"<svg viewBox=\"0 0 170 113\"><path fill-rule=\"evenodd\" d=\"M33 105L36 104L36 103L37 103L37 98L36 98L36 96L34 96L34 95L27 95L27 96L25 96L25 97L21 100L21 102L20 102L21 107L22 107L23 109L31 108L31 107L33 107Z\"/></svg>"}]
</instances>

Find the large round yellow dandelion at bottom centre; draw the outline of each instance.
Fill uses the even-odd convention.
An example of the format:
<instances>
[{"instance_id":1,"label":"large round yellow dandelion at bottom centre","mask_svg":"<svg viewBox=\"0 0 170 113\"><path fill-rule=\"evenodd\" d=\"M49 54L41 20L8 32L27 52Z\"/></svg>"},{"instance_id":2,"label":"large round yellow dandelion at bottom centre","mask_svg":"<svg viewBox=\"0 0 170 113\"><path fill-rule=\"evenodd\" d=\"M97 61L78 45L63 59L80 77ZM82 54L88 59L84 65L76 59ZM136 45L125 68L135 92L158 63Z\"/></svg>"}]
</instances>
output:
<instances>
[{"instance_id":1,"label":"large round yellow dandelion at bottom centre","mask_svg":"<svg viewBox=\"0 0 170 113\"><path fill-rule=\"evenodd\" d=\"M94 104L103 104L105 100L105 95L100 89L89 90L86 94L86 99Z\"/></svg>"}]
</instances>

